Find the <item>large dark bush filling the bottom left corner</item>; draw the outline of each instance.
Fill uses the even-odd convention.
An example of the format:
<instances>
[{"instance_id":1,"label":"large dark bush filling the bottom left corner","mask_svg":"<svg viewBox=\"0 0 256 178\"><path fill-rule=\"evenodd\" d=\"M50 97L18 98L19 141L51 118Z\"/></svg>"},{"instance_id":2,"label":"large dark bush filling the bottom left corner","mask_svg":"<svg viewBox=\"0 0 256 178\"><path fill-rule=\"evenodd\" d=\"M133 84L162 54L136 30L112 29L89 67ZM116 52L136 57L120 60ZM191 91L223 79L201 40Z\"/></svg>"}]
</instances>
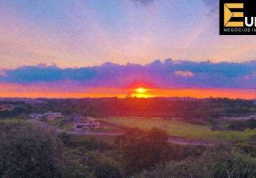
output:
<instances>
[{"instance_id":1,"label":"large dark bush filling the bottom left corner","mask_svg":"<svg viewBox=\"0 0 256 178\"><path fill-rule=\"evenodd\" d=\"M0 121L0 177L95 177L86 165L63 156L62 142L26 122Z\"/></svg>"}]
</instances>

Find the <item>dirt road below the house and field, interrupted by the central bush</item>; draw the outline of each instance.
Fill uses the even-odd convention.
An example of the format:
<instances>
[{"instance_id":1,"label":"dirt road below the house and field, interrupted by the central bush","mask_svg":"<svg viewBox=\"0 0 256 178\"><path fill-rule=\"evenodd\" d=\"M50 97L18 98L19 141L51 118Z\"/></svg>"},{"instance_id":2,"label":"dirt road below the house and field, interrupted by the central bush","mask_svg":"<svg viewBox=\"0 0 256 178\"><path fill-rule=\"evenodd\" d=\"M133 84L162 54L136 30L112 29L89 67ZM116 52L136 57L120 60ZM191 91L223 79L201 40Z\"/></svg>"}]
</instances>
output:
<instances>
[{"instance_id":1,"label":"dirt road below the house and field, interrupted by the central bush","mask_svg":"<svg viewBox=\"0 0 256 178\"><path fill-rule=\"evenodd\" d=\"M102 135L102 136L119 136L124 135L124 132L86 132L86 131L67 131L60 129L58 127L54 127L51 125L47 125L45 122L41 122L40 120L26 120L27 122L36 125L38 127L43 127L46 130L51 130L56 133L67 133L71 135ZM185 138L177 138L177 137L169 137L168 142L171 144L178 145L190 145L190 146L213 146L215 142L205 142L202 140L188 140Z\"/></svg>"}]
</instances>

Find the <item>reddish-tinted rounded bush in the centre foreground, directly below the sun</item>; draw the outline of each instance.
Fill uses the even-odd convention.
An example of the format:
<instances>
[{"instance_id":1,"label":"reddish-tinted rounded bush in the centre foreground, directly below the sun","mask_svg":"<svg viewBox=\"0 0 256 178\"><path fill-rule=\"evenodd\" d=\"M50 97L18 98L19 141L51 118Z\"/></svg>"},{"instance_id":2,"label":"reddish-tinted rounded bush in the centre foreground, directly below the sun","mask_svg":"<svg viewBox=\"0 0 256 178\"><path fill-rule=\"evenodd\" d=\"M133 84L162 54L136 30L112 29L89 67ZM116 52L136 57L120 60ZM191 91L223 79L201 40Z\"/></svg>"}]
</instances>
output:
<instances>
[{"instance_id":1,"label":"reddish-tinted rounded bush in the centre foreground, directly below the sun","mask_svg":"<svg viewBox=\"0 0 256 178\"><path fill-rule=\"evenodd\" d=\"M126 173L134 174L159 162L165 162L169 149L167 140L167 133L158 129L132 129L127 135L119 137L117 143Z\"/></svg>"}]
</instances>

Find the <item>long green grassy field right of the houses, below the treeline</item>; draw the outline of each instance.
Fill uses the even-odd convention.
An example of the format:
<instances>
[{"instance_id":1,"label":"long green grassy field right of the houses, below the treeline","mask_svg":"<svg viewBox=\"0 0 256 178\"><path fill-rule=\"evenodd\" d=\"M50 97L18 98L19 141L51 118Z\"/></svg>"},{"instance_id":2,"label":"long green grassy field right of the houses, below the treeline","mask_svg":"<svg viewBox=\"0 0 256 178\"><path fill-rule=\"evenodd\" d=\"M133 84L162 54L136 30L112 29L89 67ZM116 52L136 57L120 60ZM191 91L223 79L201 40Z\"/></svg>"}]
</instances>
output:
<instances>
[{"instance_id":1,"label":"long green grassy field right of the houses, below the treeline","mask_svg":"<svg viewBox=\"0 0 256 178\"><path fill-rule=\"evenodd\" d=\"M193 125L180 120L164 120L159 117L109 117L107 122L125 127L138 127L149 130L153 127L165 130L173 137L187 137L200 140L249 140L256 135L256 130L212 131L210 126Z\"/></svg>"}]
</instances>

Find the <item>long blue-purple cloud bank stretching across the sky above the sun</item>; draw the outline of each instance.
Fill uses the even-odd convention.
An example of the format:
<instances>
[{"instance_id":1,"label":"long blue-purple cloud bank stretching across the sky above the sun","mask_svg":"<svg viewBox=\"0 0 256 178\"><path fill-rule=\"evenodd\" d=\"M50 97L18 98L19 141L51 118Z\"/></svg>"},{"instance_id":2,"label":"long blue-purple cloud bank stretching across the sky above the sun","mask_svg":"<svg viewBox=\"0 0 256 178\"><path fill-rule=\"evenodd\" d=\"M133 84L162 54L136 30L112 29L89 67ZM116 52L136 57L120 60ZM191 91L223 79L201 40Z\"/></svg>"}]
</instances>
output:
<instances>
[{"instance_id":1,"label":"long blue-purple cloud bank stretching across the sky above the sun","mask_svg":"<svg viewBox=\"0 0 256 178\"><path fill-rule=\"evenodd\" d=\"M85 87L127 88L152 85L159 88L256 88L256 61L210 63L154 61L142 66L104 63L88 68L23 66L1 70L1 83L59 83L74 81Z\"/></svg>"}]
</instances>

